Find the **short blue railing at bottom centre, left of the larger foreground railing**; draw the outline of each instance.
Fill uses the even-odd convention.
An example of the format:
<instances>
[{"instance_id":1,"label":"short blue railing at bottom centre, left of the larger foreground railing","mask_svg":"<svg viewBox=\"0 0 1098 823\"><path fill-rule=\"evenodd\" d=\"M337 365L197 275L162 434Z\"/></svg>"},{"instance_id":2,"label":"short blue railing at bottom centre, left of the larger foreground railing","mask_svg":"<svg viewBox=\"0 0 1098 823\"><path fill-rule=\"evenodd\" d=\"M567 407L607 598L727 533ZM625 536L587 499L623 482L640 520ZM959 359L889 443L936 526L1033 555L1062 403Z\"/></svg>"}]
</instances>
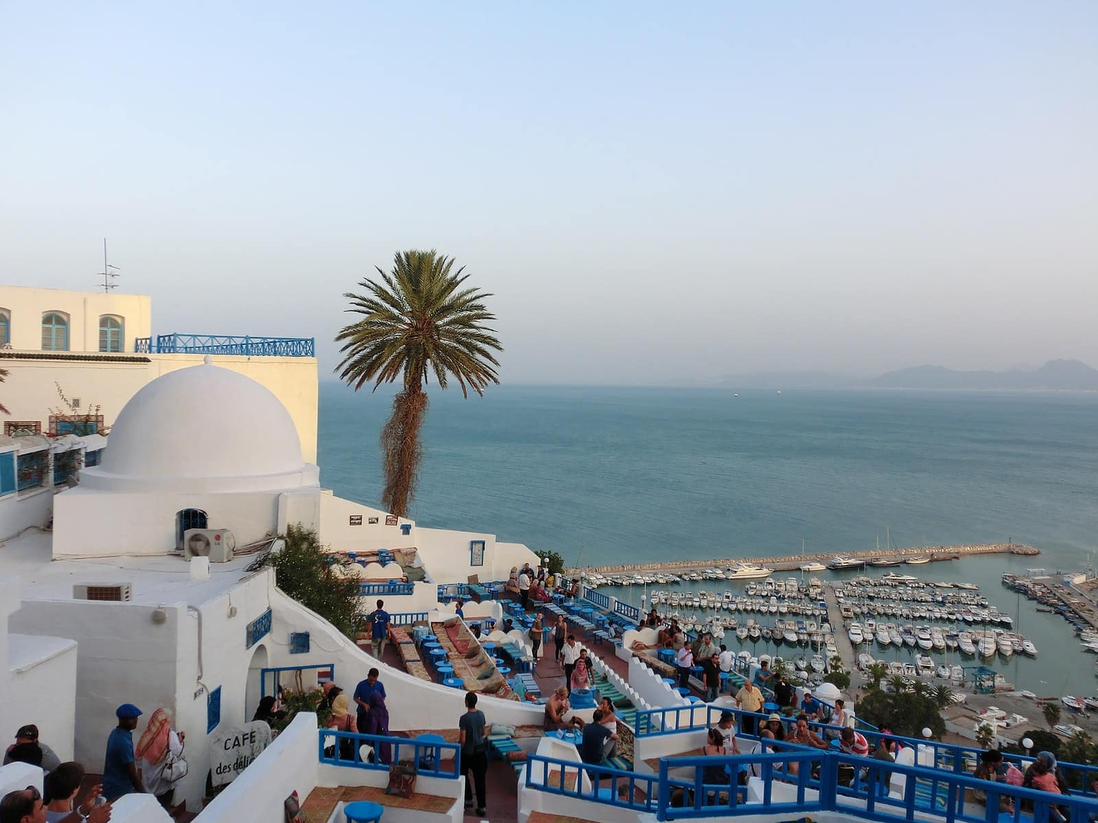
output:
<instances>
[{"instance_id":1,"label":"short blue railing at bottom centre, left of the larger foreground railing","mask_svg":"<svg viewBox=\"0 0 1098 823\"><path fill-rule=\"evenodd\" d=\"M591 786L586 790L583 788L581 769L590 778ZM608 788L605 787L606 781L609 782ZM659 794L656 775L640 775L545 755L530 755L526 758L526 786L550 794L594 800L637 812L656 811ZM638 786L641 789L639 792Z\"/></svg>"}]
</instances>

